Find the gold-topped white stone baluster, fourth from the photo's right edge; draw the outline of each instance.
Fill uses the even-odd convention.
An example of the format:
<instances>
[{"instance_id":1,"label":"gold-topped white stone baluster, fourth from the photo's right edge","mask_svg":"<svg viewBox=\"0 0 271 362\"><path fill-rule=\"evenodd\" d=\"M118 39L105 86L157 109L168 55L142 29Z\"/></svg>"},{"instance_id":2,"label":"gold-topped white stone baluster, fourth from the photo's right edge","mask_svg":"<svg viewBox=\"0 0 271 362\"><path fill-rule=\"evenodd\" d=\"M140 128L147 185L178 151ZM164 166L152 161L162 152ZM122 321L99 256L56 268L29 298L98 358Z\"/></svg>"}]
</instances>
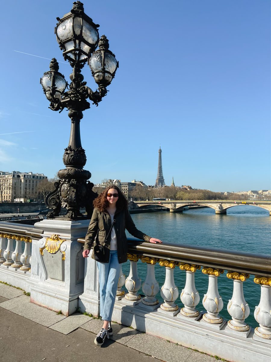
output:
<instances>
[{"instance_id":1,"label":"gold-topped white stone baluster, fourth from the photo's right edge","mask_svg":"<svg viewBox=\"0 0 271 362\"><path fill-rule=\"evenodd\" d=\"M184 304L184 308L181 308L178 317L189 317L198 320L201 317L201 313L195 308L200 299L199 292L195 287L195 272L197 269L201 269L201 266L195 264L181 264L180 269L186 270L186 282L180 298L181 302Z\"/></svg>"}]
</instances>

